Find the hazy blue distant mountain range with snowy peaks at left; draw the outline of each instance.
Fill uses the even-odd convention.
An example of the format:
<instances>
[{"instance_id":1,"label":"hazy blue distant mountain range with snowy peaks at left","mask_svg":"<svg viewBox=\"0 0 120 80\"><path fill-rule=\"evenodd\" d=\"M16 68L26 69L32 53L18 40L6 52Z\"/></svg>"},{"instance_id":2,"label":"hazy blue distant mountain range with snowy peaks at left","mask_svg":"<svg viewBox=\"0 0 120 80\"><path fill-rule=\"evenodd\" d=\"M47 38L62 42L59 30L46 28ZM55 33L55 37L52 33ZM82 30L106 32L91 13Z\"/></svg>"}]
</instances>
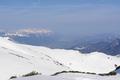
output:
<instances>
[{"instance_id":1,"label":"hazy blue distant mountain range with snowy peaks at left","mask_svg":"<svg viewBox=\"0 0 120 80\"><path fill-rule=\"evenodd\" d=\"M0 36L22 44L45 46L49 48L72 49L83 53L103 52L108 55L120 54L119 35L97 35L86 38L67 39L46 29L22 29L14 32L1 31Z\"/></svg>"}]
</instances>

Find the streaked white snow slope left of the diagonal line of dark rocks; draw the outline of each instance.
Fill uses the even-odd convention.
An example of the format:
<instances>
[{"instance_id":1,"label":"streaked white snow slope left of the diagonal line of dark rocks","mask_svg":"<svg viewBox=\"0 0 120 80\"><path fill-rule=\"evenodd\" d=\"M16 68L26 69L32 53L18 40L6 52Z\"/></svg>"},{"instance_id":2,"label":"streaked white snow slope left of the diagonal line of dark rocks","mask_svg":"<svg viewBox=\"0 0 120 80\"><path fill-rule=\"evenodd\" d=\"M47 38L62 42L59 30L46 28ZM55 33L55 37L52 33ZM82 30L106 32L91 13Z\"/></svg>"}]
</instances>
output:
<instances>
[{"instance_id":1,"label":"streaked white snow slope left of the diagonal line of dark rocks","mask_svg":"<svg viewBox=\"0 0 120 80\"><path fill-rule=\"evenodd\" d=\"M0 80L7 80L13 75L19 76L33 70L47 75L68 70L58 61L40 53L42 48L37 50L34 48L37 47L20 45L7 38L0 38Z\"/></svg>"}]
</instances>

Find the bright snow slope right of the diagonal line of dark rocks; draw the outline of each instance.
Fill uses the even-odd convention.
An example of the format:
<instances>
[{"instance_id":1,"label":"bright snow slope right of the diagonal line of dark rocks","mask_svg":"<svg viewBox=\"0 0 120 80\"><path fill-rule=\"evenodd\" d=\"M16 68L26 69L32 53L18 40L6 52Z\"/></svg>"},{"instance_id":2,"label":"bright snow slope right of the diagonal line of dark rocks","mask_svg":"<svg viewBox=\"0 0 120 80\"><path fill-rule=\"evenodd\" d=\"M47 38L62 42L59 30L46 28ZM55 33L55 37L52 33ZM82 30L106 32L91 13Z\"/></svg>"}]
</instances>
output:
<instances>
[{"instance_id":1,"label":"bright snow slope right of the diagonal line of dark rocks","mask_svg":"<svg viewBox=\"0 0 120 80\"><path fill-rule=\"evenodd\" d=\"M82 54L73 50L54 50L53 52L46 52L46 54L75 71L108 73L115 69L115 64L120 65L120 58L99 52Z\"/></svg>"}]
</instances>

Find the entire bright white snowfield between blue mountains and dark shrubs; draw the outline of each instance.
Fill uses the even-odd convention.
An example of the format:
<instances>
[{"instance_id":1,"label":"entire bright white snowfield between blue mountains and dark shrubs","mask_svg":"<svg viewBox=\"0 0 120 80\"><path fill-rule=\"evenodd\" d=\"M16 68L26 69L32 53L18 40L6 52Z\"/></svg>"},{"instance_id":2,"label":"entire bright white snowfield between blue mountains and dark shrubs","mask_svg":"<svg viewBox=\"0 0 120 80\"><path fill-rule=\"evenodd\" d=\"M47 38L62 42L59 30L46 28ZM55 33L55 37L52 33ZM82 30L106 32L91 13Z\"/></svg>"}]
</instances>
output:
<instances>
[{"instance_id":1,"label":"entire bright white snowfield between blue mountains and dark shrubs","mask_svg":"<svg viewBox=\"0 0 120 80\"><path fill-rule=\"evenodd\" d=\"M11 76L21 76L31 71L37 71L42 73L42 75L52 75L56 72L69 70L97 74L109 73L110 71L115 70L115 65L120 66L120 57L110 56L100 52L82 54L74 50L30 46L15 43L7 37L0 37L0 80L8 80ZM79 78L76 78L75 80L79 80ZM91 79L84 78L80 80Z\"/></svg>"}]
</instances>

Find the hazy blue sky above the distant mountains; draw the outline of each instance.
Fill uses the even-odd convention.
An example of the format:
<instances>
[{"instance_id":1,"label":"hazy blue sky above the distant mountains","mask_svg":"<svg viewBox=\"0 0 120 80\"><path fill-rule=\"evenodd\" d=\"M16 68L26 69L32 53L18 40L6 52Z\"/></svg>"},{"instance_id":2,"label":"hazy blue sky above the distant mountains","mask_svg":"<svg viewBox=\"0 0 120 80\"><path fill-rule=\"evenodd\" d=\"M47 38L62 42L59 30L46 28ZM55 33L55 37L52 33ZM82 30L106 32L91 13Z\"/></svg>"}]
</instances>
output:
<instances>
[{"instance_id":1,"label":"hazy blue sky above the distant mountains","mask_svg":"<svg viewBox=\"0 0 120 80\"><path fill-rule=\"evenodd\" d=\"M64 35L120 33L120 0L0 0L0 29Z\"/></svg>"}]
</instances>

